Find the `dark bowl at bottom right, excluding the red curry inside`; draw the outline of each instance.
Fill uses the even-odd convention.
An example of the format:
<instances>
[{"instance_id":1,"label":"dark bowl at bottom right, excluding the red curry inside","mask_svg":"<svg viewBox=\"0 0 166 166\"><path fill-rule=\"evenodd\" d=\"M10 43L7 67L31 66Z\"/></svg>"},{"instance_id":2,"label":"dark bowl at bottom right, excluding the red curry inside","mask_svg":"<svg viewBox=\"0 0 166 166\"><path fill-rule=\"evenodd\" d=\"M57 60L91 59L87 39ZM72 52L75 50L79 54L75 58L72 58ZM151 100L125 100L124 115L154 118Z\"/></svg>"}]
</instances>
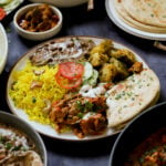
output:
<instances>
[{"instance_id":1,"label":"dark bowl at bottom right, excluding the red curry inside","mask_svg":"<svg viewBox=\"0 0 166 166\"><path fill-rule=\"evenodd\" d=\"M110 166L124 166L126 158L137 145L156 131L166 127L165 117L166 102L155 105L135 117L115 141Z\"/></svg>"}]
</instances>

